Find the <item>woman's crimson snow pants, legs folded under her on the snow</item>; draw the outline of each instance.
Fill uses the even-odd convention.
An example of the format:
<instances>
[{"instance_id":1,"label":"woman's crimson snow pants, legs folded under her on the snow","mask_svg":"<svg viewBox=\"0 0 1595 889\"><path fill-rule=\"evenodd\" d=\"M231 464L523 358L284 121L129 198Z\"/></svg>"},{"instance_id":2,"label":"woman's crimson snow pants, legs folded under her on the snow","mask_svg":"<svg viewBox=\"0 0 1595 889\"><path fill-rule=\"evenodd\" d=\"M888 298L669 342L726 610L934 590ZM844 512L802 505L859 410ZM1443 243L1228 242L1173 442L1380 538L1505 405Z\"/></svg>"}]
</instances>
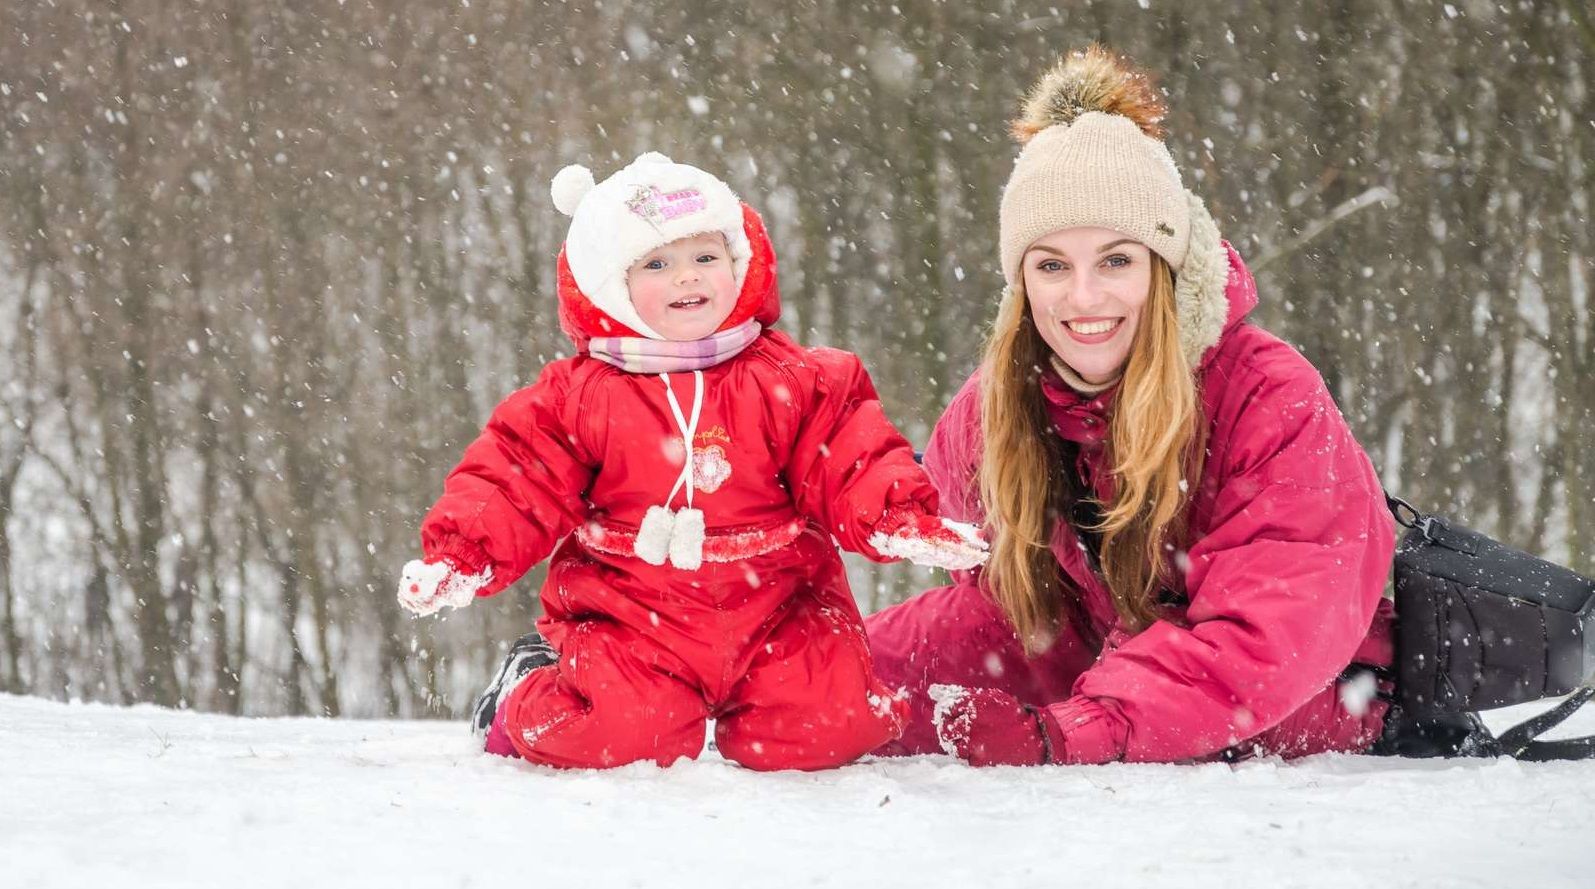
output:
<instances>
[{"instance_id":1,"label":"woman's crimson snow pants, legs folded under her on the snow","mask_svg":"<svg viewBox=\"0 0 1595 889\"><path fill-rule=\"evenodd\" d=\"M1354 662L1389 666L1392 613L1389 602L1380 605ZM1026 704L1046 707L1067 701L1075 680L1099 654L1065 630L1051 648L1027 658L1002 610L973 584L927 591L871 614L864 629L877 675L900 686L909 704L903 736L876 750L888 757L943 752L931 723L933 704L925 694L931 685L1000 688ZM1388 685L1381 688L1389 689ZM1236 745L1235 752L1278 757L1364 752L1378 739L1386 710L1386 702L1373 701L1361 717L1349 713L1340 702L1340 683L1332 680L1279 725ZM1188 758L1169 752L1168 761Z\"/></svg>"}]
</instances>

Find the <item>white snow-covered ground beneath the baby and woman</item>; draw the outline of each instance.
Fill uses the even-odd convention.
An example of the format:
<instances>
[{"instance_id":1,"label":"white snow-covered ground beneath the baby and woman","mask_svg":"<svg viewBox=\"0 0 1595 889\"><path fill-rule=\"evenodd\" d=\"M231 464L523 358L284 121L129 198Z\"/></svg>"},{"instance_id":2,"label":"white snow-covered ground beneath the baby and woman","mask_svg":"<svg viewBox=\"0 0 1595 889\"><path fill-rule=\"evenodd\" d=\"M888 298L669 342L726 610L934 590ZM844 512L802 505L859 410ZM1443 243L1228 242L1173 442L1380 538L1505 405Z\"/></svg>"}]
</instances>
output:
<instances>
[{"instance_id":1,"label":"white snow-covered ground beneath the baby and woman","mask_svg":"<svg viewBox=\"0 0 1595 889\"><path fill-rule=\"evenodd\" d=\"M6 887L1554 889L1595 886L1592 822L1595 763L557 772L459 723L0 696Z\"/></svg>"}]
</instances>

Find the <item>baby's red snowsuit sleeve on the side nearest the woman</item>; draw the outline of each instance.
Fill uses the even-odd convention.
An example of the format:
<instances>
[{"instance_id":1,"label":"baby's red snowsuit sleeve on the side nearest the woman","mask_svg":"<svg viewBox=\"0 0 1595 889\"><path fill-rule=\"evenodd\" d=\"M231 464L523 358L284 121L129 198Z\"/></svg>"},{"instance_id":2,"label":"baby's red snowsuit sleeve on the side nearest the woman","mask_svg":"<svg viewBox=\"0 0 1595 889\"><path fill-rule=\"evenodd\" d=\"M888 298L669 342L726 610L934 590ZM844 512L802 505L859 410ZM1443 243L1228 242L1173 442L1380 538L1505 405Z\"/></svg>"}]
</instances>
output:
<instances>
[{"instance_id":1,"label":"baby's red snowsuit sleeve on the side nearest the woman","mask_svg":"<svg viewBox=\"0 0 1595 889\"><path fill-rule=\"evenodd\" d=\"M845 549L884 560L868 544L876 524L895 508L935 516L936 490L858 356L821 348L805 359L817 372L786 464L793 500Z\"/></svg>"}]
</instances>

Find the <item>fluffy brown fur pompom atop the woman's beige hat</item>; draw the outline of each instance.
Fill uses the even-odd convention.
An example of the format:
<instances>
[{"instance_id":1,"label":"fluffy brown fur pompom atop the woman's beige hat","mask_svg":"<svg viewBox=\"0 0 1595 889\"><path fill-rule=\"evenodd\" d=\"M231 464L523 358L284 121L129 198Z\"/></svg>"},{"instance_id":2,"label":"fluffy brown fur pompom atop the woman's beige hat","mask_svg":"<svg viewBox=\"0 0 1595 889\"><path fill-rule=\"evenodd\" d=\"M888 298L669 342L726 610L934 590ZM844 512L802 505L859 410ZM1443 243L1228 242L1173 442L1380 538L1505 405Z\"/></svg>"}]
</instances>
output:
<instances>
[{"instance_id":1,"label":"fluffy brown fur pompom atop the woman's beige hat","mask_svg":"<svg viewBox=\"0 0 1595 889\"><path fill-rule=\"evenodd\" d=\"M1048 126L1070 124L1086 112L1128 117L1147 136L1163 139L1168 107L1144 70L1093 45L1064 56L1042 75L1010 126L1024 145Z\"/></svg>"}]
</instances>

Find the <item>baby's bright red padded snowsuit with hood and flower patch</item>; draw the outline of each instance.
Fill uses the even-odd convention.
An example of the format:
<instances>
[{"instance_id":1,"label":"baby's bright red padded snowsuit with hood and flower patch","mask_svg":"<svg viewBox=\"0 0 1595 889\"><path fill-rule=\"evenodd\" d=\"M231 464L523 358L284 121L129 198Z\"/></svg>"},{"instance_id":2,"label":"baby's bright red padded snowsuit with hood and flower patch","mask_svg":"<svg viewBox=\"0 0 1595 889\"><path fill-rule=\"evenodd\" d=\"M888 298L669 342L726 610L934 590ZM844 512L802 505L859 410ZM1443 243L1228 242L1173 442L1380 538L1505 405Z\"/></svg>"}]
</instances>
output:
<instances>
[{"instance_id":1,"label":"baby's bright red padded snowsuit with hood and flower patch","mask_svg":"<svg viewBox=\"0 0 1595 889\"><path fill-rule=\"evenodd\" d=\"M758 215L743 215L753 257L726 324L769 326L775 257ZM833 536L879 559L866 539L882 516L935 516L936 492L858 358L766 329L703 370L692 445L707 535L687 571L633 552L684 464L665 381L584 354L592 335L630 332L582 295L563 254L560 316L582 354L493 412L421 528L427 555L493 568L480 595L563 538L538 621L560 661L501 702L515 750L553 766L668 765L697 757L715 718L731 760L820 769L895 737L904 705L871 670ZM670 383L692 402L691 373Z\"/></svg>"}]
</instances>

